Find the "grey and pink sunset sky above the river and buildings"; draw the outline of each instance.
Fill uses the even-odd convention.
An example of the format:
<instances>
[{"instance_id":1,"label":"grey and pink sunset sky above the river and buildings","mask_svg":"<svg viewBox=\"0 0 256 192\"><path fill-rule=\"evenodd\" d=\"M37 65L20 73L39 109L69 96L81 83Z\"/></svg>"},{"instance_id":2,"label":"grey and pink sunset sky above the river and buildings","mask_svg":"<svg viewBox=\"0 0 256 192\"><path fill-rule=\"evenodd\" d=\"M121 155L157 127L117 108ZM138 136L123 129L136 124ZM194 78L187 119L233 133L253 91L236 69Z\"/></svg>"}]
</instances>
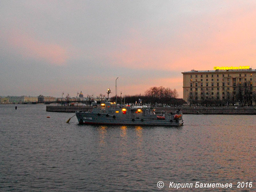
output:
<instances>
[{"instance_id":1,"label":"grey and pink sunset sky above the river and buildings","mask_svg":"<svg viewBox=\"0 0 256 192\"><path fill-rule=\"evenodd\" d=\"M181 72L256 68L256 1L0 1L0 95L177 89Z\"/></svg>"}]
</instances>

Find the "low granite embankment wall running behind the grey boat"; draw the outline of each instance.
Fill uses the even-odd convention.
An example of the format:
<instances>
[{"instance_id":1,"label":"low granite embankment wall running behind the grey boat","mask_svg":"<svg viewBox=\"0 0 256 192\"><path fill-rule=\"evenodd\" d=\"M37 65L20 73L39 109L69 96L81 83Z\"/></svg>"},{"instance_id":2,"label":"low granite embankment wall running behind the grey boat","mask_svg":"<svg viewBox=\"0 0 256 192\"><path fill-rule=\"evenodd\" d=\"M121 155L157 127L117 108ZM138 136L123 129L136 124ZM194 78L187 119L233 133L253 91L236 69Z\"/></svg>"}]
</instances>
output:
<instances>
[{"instance_id":1,"label":"low granite embankment wall running behind the grey boat","mask_svg":"<svg viewBox=\"0 0 256 192\"><path fill-rule=\"evenodd\" d=\"M226 114L226 115L256 115L256 107L156 107L156 113L170 113L180 109L183 114ZM70 112L92 111L90 106L53 106L47 105L46 111Z\"/></svg>"}]
</instances>

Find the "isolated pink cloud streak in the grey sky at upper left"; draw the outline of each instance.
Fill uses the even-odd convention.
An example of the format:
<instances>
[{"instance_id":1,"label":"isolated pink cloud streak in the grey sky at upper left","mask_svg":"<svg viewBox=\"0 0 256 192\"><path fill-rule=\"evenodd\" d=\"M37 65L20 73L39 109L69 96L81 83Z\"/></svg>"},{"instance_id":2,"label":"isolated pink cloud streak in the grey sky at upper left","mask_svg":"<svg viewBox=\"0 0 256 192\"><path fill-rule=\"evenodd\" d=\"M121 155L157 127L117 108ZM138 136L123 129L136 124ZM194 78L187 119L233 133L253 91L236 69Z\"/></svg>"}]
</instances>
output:
<instances>
[{"instance_id":1,"label":"isolated pink cloud streak in the grey sky at upper left","mask_svg":"<svg viewBox=\"0 0 256 192\"><path fill-rule=\"evenodd\" d=\"M28 33L13 30L8 36L8 43L23 57L43 59L54 65L64 65L69 58L65 47L38 40Z\"/></svg>"}]
</instances>

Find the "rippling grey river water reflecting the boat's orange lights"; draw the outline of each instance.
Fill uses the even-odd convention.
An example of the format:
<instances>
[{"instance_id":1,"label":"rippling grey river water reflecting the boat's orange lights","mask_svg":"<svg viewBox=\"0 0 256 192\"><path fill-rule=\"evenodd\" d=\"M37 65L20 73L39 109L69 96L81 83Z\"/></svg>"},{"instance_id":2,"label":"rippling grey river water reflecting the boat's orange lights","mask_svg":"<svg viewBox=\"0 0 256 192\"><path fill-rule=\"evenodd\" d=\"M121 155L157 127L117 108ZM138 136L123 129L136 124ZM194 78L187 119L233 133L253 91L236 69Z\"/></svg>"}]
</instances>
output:
<instances>
[{"instance_id":1,"label":"rippling grey river water reflecting the boat's orange lights","mask_svg":"<svg viewBox=\"0 0 256 192\"><path fill-rule=\"evenodd\" d=\"M67 124L73 115L0 105L0 191L256 191L253 115L183 115L179 128Z\"/></svg>"}]
</instances>

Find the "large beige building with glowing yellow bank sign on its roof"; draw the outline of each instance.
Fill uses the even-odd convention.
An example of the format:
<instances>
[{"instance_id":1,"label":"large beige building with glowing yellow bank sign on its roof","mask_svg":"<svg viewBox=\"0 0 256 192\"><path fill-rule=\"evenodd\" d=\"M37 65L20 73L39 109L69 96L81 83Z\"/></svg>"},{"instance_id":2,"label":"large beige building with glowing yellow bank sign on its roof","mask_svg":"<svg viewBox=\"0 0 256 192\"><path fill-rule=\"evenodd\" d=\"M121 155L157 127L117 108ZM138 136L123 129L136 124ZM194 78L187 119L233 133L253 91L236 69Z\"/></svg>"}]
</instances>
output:
<instances>
[{"instance_id":1,"label":"large beige building with glowing yellow bank sign on its roof","mask_svg":"<svg viewBox=\"0 0 256 192\"><path fill-rule=\"evenodd\" d=\"M183 99L188 103L204 99L231 99L238 102L237 91L240 86L249 88L246 97L253 100L253 94L256 93L256 69L249 66L230 68L214 67L215 70L182 72Z\"/></svg>"}]
</instances>

